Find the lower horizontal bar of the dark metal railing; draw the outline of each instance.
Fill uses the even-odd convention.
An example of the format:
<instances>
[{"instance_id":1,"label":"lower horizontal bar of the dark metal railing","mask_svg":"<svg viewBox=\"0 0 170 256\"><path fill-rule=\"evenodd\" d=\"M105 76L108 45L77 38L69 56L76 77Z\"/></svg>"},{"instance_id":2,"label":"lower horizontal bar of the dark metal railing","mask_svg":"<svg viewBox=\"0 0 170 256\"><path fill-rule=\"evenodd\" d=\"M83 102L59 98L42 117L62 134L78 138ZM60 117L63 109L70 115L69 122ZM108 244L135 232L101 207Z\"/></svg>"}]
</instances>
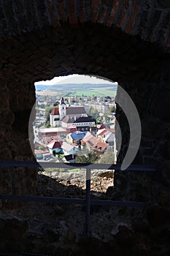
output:
<instances>
[{"instance_id":1,"label":"lower horizontal bar of the dark metal railing","mask_svg":"<svg viewBox=\"0 0 170 256\"><path fill-rule=\"evenodd\" d=\"M63 203L63 204L85 204L85 199L79 198L64 198L64 197L34 197L27 195L0 195L1 200L15 200L28 202L42 202L42 203ZM115 200L90 200L90 205L93 206L119 206L119 207L139 207L146 206L144 202L134 201L115 201Z\"/></svg>"}]
</instances>

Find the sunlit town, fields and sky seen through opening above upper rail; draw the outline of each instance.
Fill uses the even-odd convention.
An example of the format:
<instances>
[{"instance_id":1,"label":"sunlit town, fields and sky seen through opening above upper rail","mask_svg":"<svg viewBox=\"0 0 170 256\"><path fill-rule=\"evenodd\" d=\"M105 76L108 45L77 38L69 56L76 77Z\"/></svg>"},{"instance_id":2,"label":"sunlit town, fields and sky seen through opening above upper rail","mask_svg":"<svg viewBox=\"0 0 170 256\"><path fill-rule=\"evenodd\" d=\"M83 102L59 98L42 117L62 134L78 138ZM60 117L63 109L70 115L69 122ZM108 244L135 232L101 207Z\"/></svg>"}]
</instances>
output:
<instances>
[{"instance_id":1,"label":"sunlit town, fields and sky seen through opening above upper rail","mask_svg":"<svg viewBox=\"0 0 170 256\"><path fill-rule=\"evenodd\" d=\"M115 163L117 83L69 75L36 82L35 88L38 162Z\"/></svg>"}]
</instances>

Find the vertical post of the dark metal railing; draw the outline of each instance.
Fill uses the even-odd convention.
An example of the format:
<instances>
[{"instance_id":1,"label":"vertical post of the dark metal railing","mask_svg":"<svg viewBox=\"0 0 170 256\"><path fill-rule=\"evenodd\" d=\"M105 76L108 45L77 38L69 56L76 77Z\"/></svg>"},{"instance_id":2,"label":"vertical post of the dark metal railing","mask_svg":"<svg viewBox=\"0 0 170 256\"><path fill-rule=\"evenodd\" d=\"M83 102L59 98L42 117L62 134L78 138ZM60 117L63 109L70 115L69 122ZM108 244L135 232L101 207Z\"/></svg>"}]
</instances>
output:
<instances>
[{"instance_id":1,"label":"vertical post of the dark metal railing","mask_svg":"<svg viewBox=\"0 0 170 256\"><path fill-rule=\"evenodd\" d=\"M85 236L90 236L90 169L86 169Z\"/></svg>"}]
</instances>

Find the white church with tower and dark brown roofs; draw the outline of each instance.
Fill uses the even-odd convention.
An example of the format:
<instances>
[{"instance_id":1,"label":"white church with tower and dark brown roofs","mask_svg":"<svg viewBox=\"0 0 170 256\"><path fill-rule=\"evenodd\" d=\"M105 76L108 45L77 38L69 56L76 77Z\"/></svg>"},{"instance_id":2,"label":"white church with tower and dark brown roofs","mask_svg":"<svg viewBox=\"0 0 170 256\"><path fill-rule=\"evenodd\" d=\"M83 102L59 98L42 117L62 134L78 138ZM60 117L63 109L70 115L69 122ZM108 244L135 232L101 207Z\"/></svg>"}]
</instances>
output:
<instances>
[{"instance_id":1,"label":"white church with tower and dark brown roofs","mask_svg":"<svg viewBox=\"0 0 170 256\"><path fill-rule=\"evenodd\" d=\"M69 127L72 124L91 127L92 124L95 124L95 121L88 117L84 107L66 107L62 98L58 107L53 108L50 113L50 125L53 127Z\"/></svg>"}]
</instances>

